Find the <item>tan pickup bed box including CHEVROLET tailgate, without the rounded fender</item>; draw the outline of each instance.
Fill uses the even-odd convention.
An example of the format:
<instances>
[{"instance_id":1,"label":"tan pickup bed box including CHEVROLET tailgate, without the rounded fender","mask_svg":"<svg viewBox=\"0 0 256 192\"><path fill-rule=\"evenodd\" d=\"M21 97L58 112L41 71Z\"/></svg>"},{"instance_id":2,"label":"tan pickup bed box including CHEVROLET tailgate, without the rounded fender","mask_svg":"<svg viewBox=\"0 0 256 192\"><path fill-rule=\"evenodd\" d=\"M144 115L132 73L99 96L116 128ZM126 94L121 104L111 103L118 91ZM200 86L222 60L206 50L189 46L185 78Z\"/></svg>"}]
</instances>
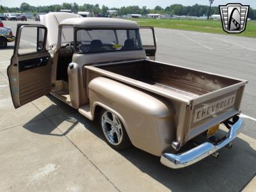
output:
<instances>
[{"instance_id":1,"label":"tan pickup bed box including CHEVROLET tailgate, without the rounded fender","mask_svg":"<svg viewBox=\"0 0 256 192\"><path fill-rule=\"evenodd\" d=\"M108 77L161 95L177 111L177 138L186 143L239 113L247 81L152 60L95 63L84 66L84 87Z\"/></svg>"}]
</instances>

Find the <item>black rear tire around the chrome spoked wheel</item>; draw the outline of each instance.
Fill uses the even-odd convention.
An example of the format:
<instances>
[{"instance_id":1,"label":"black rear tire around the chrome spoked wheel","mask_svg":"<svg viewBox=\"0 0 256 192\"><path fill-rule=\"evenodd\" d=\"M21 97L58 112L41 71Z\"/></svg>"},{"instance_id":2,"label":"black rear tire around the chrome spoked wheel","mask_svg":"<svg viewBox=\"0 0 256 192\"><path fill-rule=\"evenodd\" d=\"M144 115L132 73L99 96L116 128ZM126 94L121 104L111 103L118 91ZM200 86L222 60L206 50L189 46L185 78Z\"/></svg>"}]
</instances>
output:
<instances>
[{"instance_id":1,"label":"black rear tire around the chrome spoked wheel","mask_svg":"<svg viewBox=\"0 0 256 192\"><path fill-rule=\"evenodd\" d=\"M128 135L127 135L127 132L125 131L125 127L124 127L122 121L117 116L116 116L116 118L118 119L118 122L120 124L118 124L118 128L116 128L116 131L117 131L117 129L119 129L119 130L122 129L122 131L119 131L119 133L122 133L122 139L120 139L120 141L118 141L118 136L117 136L116 132L113 133L113 140L112 141L108 137L108 134L106 132L106 128L109 129L109 130L112 130L111 127L113 127L113 126L111 126L109 123L104 122L103 119L104 119L105 115L110 115L110 114L115 115L115 113L112 113L111 111L107 111L106 109L102 109L100 111L100 115L99 115L99 124L100 124L100 128L102 129L102 133L103 133L103 136L104 136L104 139L105 139L106 143L108 143L108 145L110 147L114 148L115 150L124 150L125 148L131 147L132 144L131 144L131 141L130 141ZM109 116L109 118L111 119L111 116ZM113 120L113 118L111 120ZM106 125L108 125L108 126L106 126Z\"/></svg>"}]
</instances>

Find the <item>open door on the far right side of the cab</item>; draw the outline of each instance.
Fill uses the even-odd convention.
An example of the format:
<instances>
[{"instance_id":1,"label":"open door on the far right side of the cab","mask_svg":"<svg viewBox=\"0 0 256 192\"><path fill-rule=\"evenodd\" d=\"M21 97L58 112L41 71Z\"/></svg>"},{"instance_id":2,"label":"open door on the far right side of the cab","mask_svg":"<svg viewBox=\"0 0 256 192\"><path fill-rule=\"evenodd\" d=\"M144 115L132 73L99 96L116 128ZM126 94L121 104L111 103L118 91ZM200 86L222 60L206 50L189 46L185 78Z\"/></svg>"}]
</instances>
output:
<instances>
[{"instance_id":1,"label":"open door on the far right side of the cab","mask_svg":"<svg viewBox=\"0 0 256 192\"><path fill-rule=\"evenodd\" d=\"M156 37L153 27L140 26L143 49L150 60L156 59Z\"/></svg>"}]
</instances>

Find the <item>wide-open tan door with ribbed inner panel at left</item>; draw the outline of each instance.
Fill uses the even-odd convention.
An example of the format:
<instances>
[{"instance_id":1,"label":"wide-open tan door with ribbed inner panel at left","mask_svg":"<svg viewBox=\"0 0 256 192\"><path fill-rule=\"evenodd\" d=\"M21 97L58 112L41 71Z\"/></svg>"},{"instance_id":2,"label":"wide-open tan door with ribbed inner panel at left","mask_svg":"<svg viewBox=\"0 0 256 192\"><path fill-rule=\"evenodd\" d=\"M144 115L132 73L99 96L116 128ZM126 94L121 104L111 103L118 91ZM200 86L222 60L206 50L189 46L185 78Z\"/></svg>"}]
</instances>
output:
<instances>
[{"instance_id":1,"label":"wide-open tan door with ribbed inner panel at left","mask_svg":"<svg viewBox=\"0 0 256 192\"><path fill-rule=\"evenodd\" d=\"M7 74L13 105L19 108L51 92L51 55L45 48L47 28L18 24Z\"/></svg>"}]
</instances>

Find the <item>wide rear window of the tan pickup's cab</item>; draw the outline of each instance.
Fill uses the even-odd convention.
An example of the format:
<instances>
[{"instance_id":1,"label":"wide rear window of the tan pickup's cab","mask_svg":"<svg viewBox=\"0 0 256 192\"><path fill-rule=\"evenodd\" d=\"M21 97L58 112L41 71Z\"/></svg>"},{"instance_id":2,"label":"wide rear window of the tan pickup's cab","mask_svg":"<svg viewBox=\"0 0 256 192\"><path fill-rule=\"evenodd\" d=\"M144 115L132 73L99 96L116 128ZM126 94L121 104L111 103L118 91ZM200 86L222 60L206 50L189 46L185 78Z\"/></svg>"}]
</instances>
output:
<instances>
[{"instance_id":1,"label":"wide rear window of the tan pickup's cab","mask_svg":"<svg viewBox=\"0 0 256 192\"><path fill-rule=\"evenodd\" d=\"M138 29L78 29L76 52L108 52L142 49Z\"/></svg>"}]
</instances>

